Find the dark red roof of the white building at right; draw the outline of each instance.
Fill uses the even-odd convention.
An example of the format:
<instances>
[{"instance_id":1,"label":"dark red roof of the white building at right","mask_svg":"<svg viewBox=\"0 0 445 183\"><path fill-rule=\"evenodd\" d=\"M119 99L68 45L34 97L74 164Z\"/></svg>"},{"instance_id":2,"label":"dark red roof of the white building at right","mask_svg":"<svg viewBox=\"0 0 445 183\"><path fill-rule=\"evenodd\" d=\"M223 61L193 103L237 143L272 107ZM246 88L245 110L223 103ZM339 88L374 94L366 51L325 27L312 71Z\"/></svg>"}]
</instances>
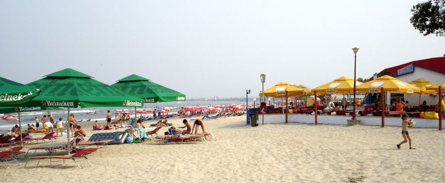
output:
<instances>
[{"instance_id":1,"label":"dark red roof of the white building at right","mask_svg":"<svg viewBox=\"0 0 445 183\"><path fill-rule=\"evenodd\" d=\"M431 71L445 74L445 55L444 55L444 57L416 60L416 61L408 62L408 63L402 64L402 65L398 65L395 67L387 68L387 69L384 69L383 71L381 71L380 73L377 73L377 76L378 77L380 77L382 75L395 76L395 75L397 75L397 70L404 68L406 66L409 66L411 64L413 64L415 67L420 67L420 68L424 68L424 69L428 69ZM370 78L370 80L372 80L372 77Z\"/></svg>"}]
</instances>

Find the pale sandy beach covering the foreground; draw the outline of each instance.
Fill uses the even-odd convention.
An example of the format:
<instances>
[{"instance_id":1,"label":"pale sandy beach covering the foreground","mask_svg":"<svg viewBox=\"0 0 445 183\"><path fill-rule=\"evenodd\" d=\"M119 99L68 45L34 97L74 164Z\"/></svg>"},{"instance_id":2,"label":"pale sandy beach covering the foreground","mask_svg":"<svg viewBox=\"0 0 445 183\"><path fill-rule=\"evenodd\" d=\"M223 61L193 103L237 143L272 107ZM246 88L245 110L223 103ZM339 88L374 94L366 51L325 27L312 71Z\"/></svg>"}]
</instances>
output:
<instances>
[{"instance_id":1,"label":"pale sandy beach covering the foreground","mask_svg":"<svg viewBox=\"0 0 445 183\"><path fill-rule=\"evenodd\" d=\"M182 119L168 119L175 127ZM152 122L154 123L154 122ZM301 123L246 126L246 116L205 120L217 141L103 147L79 169L71 161L38 167L27 157L1 168L2 182L444 182L445 132L410 128L415 150L396 144L400 127L313 125ZM79 123L88 134L92 123ZM163 127L159 134L167 130ZM58 143L66 139L58 140ZM30 145L41 146L41 145ZM2 147L5 149L7 147ZM59 153L66 153L60 151ZM46 155L41 151L39 155ZM24 176L27 175L27 176Z\"/></svg>"}]
</instances>

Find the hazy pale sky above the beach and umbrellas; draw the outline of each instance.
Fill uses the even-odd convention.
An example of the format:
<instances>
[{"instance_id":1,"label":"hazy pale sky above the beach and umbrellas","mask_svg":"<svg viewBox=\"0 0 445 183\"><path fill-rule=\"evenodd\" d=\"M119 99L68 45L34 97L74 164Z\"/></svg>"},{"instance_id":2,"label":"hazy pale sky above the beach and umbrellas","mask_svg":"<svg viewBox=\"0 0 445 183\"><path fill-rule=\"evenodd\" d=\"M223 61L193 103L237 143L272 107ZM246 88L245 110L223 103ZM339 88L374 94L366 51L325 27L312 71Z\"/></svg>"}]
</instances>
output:
<instances>
[{"instance_id":1,"label":"hazy pale sky above the beach and umbrellas","mask_svg":"<svg viewBox=\"0 0 445 183\"><path fill-rule=\"evenodd\" d=\"M445 38L409 22L424 0L0 0L0 77L71 68L130 74L187 98L249 97L283 81L314 88L442 57ZM426 0L425 0L426 1Z\"/></svg>"}]
</instances>

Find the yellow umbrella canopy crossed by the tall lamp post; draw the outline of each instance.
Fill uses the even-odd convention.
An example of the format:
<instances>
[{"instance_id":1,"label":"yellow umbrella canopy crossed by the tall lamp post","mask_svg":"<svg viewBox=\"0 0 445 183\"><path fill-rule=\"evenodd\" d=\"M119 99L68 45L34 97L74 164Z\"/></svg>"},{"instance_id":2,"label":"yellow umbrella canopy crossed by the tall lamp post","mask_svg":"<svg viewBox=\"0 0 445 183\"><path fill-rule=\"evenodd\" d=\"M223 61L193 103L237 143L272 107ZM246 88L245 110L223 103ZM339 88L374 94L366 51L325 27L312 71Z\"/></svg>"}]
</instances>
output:
<instances>
[{"instance_id":1,"label":"yellow umbrella canopy crossed by the tall lamp post","mask_svg":"<svg viewBox=\"0 0 445 183\"><path fill-rule=\"evenodd\" d=\"M360 81L355 81L356 86L363 84ZM319 95L328 95L335 93L351 93L354 92L354 79L350 77L339 77L331 82L318 86L312 90L316 90Z\"/></svg>"}]
</instances>

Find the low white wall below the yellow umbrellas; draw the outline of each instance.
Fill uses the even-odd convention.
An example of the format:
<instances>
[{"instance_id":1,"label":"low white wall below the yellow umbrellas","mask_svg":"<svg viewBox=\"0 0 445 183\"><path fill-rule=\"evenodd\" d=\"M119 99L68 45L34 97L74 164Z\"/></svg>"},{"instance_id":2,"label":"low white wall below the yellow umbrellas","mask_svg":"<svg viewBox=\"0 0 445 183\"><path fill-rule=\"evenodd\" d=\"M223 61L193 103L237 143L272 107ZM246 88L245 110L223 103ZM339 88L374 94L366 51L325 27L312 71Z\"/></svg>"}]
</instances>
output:
<instances>
[{"instance_id":1,"label":"low white wall below the yellow umbrellas","mask_svg":"<svg viewBox=\"0 0 445 183\"><path fill-rule=\"evenodd\" d=\"M351 119L349 115L317 115L318 123L347 125L347 119ZM360 125L381 126L382 117L380 116L357 116ZM414 128L439 128L438 119L409 118L416 121ZM264 114L264 124L267 123L284 123L286 114ZM299 123L315 123L313 114L288 114L288 122ZM258 115L258 124L262 124L262 116ZM400 117L385 117L385 126L401 126Z\"/></svg>"}]
</instances>

